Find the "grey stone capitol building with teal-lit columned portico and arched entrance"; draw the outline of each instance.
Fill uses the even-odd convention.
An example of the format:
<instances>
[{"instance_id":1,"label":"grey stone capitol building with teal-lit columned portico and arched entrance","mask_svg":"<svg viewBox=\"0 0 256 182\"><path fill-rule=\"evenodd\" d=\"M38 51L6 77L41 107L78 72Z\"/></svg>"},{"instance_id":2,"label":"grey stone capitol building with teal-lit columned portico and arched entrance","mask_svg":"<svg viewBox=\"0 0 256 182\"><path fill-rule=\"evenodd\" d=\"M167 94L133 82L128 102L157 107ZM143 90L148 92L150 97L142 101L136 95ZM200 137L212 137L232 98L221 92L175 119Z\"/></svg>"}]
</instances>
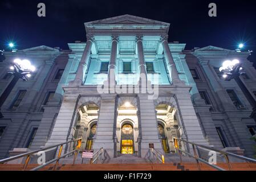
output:
<instances>
[{"instance_id":1,"label":"grey stone capitol building with teal-lit columned portico and arched entrance","mask_svg":"<svg viewBox=\"0 0 256 182\"><path fill-rule=\"evenodd\" d=\"M5 52L0 94L15 58L30 60L36 71L17 82L1 107L0 159L76 138L82 138L80 151L104 148L109 160L147 158L152 146L172 158L173 138L253 158L253 108L237 82L219 71L225 60L239 60L246 72L240 78L256 100L250 52L210 45L189 50L168 42L169 23L132 15L84 26L86 42L68 43L68 50ZM66 144L63 154L72 148Z\"/></svg>"}]
</instances>

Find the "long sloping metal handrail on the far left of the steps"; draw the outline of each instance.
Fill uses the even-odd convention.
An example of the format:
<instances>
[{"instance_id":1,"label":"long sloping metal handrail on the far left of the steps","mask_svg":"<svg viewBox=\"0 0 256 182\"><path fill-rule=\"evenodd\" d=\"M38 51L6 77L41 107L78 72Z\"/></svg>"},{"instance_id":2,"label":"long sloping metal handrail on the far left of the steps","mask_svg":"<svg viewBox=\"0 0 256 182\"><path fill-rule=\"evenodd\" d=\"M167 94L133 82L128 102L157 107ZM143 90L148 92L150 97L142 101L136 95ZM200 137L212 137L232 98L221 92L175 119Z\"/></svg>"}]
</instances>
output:
<instances>
[{"instance_id":1,"label":"long sloping metal handrail on the far left of the steps","mask_svg":"<svg viewBox=\"0 0 256 182\"><path fill-rule=\"evenodd\" d=\"M75 142L75 149L70 151L70 152L68 152L68 153L66 153L66 154L64 154L64 155L62 155L63 145L71 143L71 142ZM57 158L49 160L45 164L41 164L41 165L31 169L31 171L36 171L36 170L38 170L40 168L43 168L43 167L47 166L48 164L56 162L55 165L54 165L54 168L53 168L53 170L55 170L56 167L59 164L59 160L64 158L64 157L66 157L66 156L68 156L68 155L70 155L70 154L72 154L73 152L75 152L74 159L73 159L73 164L75 164L76 155L78 154L78 151L79 151L79 149L81 147L81 144L82 144L82 138L78 138L78 139L70 140L70 141L67 141L67 142L60 143L60 144L56 144L54 146L44 147L44 148L40 148L39 150L35 150L35 151L31 151L31 152L26 152L25 154L15 155L15 156L12 156L12 157L7 158L7 159L2 159L2 160L0 160L0 164L4 164L4 163L9 162L11 160L27 157L26 160L25 160L25 164L23 165L23 171L25 171L26 168L27 168L27 165L30 162L31 156L33 154L36 154L37 152L40 152L40 151L46 151L46 150L49 150L49 149L55 148L55 147L56 147L56 150L58 150L58 147L60 146Z\"/></svg>"}]
</instances>

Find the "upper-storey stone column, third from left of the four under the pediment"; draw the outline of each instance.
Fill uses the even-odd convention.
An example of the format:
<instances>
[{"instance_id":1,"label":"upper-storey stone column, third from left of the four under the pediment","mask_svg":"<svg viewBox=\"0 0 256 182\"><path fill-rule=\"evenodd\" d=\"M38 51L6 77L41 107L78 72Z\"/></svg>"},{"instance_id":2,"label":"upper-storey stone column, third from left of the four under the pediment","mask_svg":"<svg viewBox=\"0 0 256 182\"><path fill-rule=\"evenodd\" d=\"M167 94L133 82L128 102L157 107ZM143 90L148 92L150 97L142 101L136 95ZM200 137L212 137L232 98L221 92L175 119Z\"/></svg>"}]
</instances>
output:
<instances>
[{"instance_id":1,"label":"upper-storey stone column, third from left of the four under the pediment","mask_svg":"<svg viewBox=\"0 0 256 182\"><path fill-rule=\"evenodd\" d=\"M140 71L140 79L145 78L147 82L147 67L145 63L144 51L143 51L143 36L136 36L137 42L137 50L138 50L138 59L139 59L139 71Z\"/></svg>"}]
</instances>

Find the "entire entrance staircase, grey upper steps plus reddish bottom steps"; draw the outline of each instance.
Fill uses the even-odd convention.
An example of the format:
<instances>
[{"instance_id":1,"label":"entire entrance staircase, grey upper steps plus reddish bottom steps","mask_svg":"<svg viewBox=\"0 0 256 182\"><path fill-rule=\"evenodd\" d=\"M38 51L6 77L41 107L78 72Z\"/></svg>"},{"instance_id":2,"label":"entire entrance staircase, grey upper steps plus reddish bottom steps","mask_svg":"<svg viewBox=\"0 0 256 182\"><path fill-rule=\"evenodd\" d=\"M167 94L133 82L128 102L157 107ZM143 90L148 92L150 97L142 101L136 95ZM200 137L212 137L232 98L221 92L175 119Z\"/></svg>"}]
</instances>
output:
<instances>
[{"instance_id":1,"label":"entire entrance staircase, grey upper steps plus reddish bottom steps","mask_svg":"<svg viewBox=\"0 0 256 182\"><path fill-rule=\"evenodd\" d=\"M138 158L132 154L120 154L117 158L100 160L97 164L90 164L90 159L84 159L82 164L82 155L78 154L76 162L73 163L74 156L61 159L56 168L58 171L198 171L195 159L188 156L180 156L178 154L165 154L165 164L158 160L149 160ZM27 170L38 166L37 164L29 164ZM221 168L229 170L226 163L218 163ZM256 171L256 164L253 163L231 163L234 171ZM201 171L217 171L206 164L200 163ZM0 164L0 171L19 171L22 170L23 164ZM54 164L50 164L40 171L53 170Z\"/></svg>"}]
</instances>

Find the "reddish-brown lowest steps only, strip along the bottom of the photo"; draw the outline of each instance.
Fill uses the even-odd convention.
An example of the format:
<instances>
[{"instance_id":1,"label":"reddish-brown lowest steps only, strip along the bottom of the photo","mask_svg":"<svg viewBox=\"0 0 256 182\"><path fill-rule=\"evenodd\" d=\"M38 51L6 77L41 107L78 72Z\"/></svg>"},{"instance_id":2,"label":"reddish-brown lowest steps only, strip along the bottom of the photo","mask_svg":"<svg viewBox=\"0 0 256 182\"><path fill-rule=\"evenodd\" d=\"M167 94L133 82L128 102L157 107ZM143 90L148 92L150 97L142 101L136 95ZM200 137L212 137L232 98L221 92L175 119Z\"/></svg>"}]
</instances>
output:
<instances>
[{"instance_id":1,"label":"reddish-brown lowest steps only, strip along the bottom of the photo","mask_svg":"<svg viewBox=\"0 0 256 182\"><path fill-rule=\"evenodd\" d=\"M234 171L256 171L256 164L232 163ZM36 167L37 164L29 164L27 170ZM218 166L228 170L227 164ZM23 164L0 164L0 171L21 171ZM217 171L206 164L200 164L201 171ZM40 169L40 171L52 171L54 164ZM59 164L58 171L198 171L196 163L165 163L165 164Z\"/></svg>"}]
</instances>

